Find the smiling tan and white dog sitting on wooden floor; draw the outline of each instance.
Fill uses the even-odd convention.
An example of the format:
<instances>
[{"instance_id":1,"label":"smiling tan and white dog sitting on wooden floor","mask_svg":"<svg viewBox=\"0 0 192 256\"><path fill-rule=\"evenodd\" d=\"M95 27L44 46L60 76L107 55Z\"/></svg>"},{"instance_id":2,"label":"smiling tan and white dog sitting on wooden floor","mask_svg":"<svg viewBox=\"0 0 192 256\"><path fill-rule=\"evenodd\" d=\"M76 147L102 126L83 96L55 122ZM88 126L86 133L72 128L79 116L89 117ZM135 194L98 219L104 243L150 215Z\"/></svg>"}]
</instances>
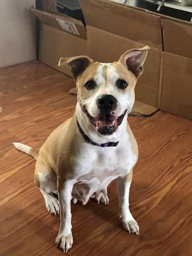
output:
<instances>
[{"instance_id":1,"label":"smiling tan and white dog sitting on wooden floor","mask_svg":"<svg viewBox=\"0 0 192 256\"><path fill-rule=\"evenodd\" d=\"M68 65L78 89L76 112L47 138L37 153L21 143L14 146L33 156L35 183L50 213L60 211L55 240L67 252L73 244L70 202L90 198L109 203L107 186L117 179L120 215L125 230L139 234L129 210L129 191L138 146L127 123L134 88L149 47L125 52L117 62L93 62L89 57L60 58ZM53 195L58 194L58 199Z\"/></svg>"}]
</instances>

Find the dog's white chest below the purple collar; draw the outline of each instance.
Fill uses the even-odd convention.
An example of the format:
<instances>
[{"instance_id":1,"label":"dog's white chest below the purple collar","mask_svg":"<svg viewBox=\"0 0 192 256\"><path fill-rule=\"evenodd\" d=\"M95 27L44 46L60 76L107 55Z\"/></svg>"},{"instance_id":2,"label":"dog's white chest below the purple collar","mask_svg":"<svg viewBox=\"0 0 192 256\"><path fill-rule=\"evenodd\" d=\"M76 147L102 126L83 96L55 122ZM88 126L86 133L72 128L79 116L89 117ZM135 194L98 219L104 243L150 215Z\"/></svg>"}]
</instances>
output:
<instances>
[{"instance_id":1,"label":"dog's white chest below the purple collar","mask_svg":"<svg viewBox=\"0 0 192 256\"><path fill-rule=\"evenodd\" d=\"M119 175L128 173L137 161L129 140L125 138L117 147L100 148L85 144L76 163L78 181L92 181L102 185L110 183Z\"/></svg>"}]
</instances>

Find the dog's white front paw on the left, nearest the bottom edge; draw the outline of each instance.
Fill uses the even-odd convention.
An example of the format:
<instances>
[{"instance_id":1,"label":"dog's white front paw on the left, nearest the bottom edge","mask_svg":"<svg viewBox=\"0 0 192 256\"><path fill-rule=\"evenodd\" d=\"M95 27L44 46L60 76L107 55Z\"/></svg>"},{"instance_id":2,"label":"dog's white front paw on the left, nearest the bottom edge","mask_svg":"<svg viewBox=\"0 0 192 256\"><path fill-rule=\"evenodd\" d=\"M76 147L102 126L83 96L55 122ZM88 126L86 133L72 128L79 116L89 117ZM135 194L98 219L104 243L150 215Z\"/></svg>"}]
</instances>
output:
<instances>
[{"instance_id":1,"label":"dog's white front paw on the left, nearest the bottom edge","mask_svg":"<svg viewBox=\"0 0 192 256\"><path fill-rule=\"evenodd\" d=\"M69 234L65 234L64 232L59 232L57 238L55 239L55 243L57 244L57 247L63 250L63 252L67 253L73 244L72 233L70 232Z\"/></svg>"}]
</instances>

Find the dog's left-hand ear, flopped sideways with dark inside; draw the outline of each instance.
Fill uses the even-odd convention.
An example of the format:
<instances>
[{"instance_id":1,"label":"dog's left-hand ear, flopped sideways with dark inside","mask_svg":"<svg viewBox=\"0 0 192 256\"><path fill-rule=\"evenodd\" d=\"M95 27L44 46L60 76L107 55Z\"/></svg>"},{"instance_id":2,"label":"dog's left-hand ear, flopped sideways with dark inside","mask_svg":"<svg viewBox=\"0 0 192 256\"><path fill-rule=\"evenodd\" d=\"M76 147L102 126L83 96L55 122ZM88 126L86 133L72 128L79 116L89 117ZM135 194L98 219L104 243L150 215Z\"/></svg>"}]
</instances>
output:
<instances>
[{"instance_id":1,"label":"dog's left-hand ear, flopped sideways with dark inside","mask_svg":"<svg viewBox=\"0 0 192 256\"><path fill-rule=\"evenodd\" d=\"M70 58L60 58L58 66L61 67L63 65L68 65L71 70L71 74L73 78L76 80L77 77L83 73L83 71L93 62L87 56L77 56L77 57L70 57Z\"/></svg>"}]
</instances>

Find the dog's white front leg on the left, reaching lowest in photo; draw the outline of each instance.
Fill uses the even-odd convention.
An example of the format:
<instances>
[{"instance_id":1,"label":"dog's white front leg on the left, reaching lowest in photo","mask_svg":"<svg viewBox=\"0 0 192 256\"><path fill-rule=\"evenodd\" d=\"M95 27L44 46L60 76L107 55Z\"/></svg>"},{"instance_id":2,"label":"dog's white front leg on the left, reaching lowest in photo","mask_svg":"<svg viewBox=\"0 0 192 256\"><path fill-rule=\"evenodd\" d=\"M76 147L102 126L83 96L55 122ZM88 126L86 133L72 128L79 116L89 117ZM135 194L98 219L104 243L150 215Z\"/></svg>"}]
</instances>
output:
<instances>
[{"instance_id":1,"label":"dog's white front leg on the left, reaching lowest in photo","mask_svg":"<svg viewBox=\"0 0 192 256\"><path fill-rule=\"evenodd\" d=\"M66 180L58 182L58 196L60 203L60 229L55 243L64 252L67 252L73 244L73 236L71 233L71 192L74 180Z\"/></svg>"}]
</instances>

